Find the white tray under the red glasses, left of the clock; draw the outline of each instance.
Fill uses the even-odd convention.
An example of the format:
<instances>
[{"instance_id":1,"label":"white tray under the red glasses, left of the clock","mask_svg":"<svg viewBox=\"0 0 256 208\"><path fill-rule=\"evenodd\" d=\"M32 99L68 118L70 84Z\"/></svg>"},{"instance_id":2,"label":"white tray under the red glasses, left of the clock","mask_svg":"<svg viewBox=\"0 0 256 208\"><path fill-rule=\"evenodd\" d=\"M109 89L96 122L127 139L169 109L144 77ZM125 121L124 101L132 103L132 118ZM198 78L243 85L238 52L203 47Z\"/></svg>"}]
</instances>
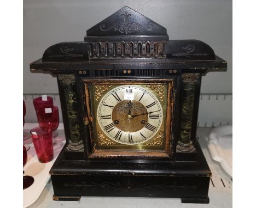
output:
<instances>
[{"instance_id":1,"label":"white tray under the red glasses, left of the clock","mask_svg":"<svg viewBox=\"0 0 256 208\"><path fill-rule=\"evenodd\" d=\"M33 127L38 126L38 124L25 124L24 130L30 131ZM56 137L56 140L62 146L66 143L63 124L59 125L57 129L59 135ZM26 144L30 144L31 148L27 151L27 163L24 166L24 175L30 175L34 178L34 183L23 190L23 207L30 206L36 201L40 194L42 193L45 185L48 183L50 179L49 171L53 166L57 156L60 154L59 150L54 151L54 159L48 163L40 163L38 161L36 151L34 149L34 145L32 143L31 138L25 140Z\"/></svg>"}]
</instances>

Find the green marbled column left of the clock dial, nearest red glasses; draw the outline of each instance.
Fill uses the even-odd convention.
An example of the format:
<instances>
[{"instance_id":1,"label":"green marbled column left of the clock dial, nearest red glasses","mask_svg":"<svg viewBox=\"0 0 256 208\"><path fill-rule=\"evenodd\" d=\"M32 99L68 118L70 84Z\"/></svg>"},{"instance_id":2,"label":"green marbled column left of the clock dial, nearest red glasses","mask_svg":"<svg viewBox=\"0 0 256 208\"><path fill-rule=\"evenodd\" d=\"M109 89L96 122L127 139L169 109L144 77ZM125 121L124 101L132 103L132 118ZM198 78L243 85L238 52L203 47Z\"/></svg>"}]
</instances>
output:
<instances>
[{"instance_id":1,"label":"green marbled column left of the clock dial, nearest red glasses","mask_svg":"<svg viewBox=\"0 0 256 208\"><path fill-rule=\"evenodd\" d=\"M64 121L66 124L65 133L66 137L69 139L67 148L71 151L80 151L84 149L84 145L79 132L75 77L74 75L59 75L58 79L59 89L63 92L60 93L60 96L63 120L66 120L66 122Z\"/></svg>"}]
</instances>

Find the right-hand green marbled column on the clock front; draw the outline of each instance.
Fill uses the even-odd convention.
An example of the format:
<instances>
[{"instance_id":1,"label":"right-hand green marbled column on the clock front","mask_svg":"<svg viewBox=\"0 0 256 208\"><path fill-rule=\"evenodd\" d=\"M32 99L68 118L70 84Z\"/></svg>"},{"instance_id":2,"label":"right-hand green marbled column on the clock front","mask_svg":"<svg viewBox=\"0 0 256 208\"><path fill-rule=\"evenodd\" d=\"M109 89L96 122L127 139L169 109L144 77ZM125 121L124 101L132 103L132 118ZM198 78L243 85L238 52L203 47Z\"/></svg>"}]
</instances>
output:
<instances>
[{"instance_id":1,"label":"right-hand green marbled column on the clock front","mask_svg":"<svg viewBox=\"0 0 256 208\"><path fill-rule=\"evenodd\" d=\"M193 152L194 145L191 140L191 130L193 122L193 112L195 103L196 83L199 82L199 74L182 75L183 100L181 115L181 133L177 143L177 150L181 152Z\"/></svg>"}]
</instances>

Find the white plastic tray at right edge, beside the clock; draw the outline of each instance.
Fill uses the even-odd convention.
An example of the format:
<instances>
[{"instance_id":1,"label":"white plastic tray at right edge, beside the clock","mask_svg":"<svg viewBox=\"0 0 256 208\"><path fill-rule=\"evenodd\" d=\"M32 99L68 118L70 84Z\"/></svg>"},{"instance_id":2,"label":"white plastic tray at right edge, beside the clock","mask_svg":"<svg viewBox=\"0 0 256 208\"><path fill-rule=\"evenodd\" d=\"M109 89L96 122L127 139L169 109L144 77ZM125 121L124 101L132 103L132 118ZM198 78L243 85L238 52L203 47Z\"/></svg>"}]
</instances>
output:
<instances>
[{"instance_id":1,"label":"white plastic tray at right edge, beside the clock","mask_svg":"<svg viewBox=\"0 0 256 208\"><path fill-rule=\"evenodd\" d=\"M208 149L214 161L232 177L232 125L219 126L209 135Z\"/></svg>"}]
</instances>

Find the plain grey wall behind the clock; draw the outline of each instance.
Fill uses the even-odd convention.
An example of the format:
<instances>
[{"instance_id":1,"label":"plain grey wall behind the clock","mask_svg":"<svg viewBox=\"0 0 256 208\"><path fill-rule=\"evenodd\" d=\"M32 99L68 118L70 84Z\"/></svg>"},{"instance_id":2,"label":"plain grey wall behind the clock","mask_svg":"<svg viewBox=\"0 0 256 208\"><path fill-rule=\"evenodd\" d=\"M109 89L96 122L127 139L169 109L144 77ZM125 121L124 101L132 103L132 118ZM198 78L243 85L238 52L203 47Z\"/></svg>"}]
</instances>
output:
<instances>
[{"instance_id":1,"label":"plain grey wall behind the clock","mask_svg":"<svg viewBox=\"0 0 256 208\"><path fill-rule=\"evenodd\" d=\"M125 5L164 26L170 40L199 39L210 45L228 62L228 71L209 72L202 78L201 93L214 96L232 93L231 0L24 0L24 94L57 94L56 78L49 74L32 74L29 64L57 42L83 41L86 29ZM200 102L201 122L207 122L209 118L203 115L210 112L216 124L222 120L231 123L232 99L219 97L215 100L223 100L223 103L212 103L213 107L209 107L208 102Z\"/></svg>"}]
</instances>

